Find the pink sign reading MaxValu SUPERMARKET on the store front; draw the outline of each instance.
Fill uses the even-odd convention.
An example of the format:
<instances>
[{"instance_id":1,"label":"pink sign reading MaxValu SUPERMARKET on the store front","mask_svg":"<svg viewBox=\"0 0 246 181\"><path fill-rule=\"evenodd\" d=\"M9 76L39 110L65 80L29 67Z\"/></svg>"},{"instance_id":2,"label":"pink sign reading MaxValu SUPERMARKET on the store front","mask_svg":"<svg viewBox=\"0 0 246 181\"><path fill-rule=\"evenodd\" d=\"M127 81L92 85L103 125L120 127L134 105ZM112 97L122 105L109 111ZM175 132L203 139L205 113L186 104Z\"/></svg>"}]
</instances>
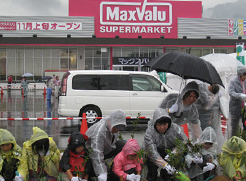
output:
<instances>
[{"instance_id":1,"label":"pink sign reading MaxValu SUPERMARKET on the store front","mask_svg":"<svg viewBox=\"0 0 246 181\"><path fill-rule=\"evenodd\" d=\"M97 37L177 38L177 19L202 18L202 2L70 0L69 15L93 16Z\"/></svg>"}]
</instances>

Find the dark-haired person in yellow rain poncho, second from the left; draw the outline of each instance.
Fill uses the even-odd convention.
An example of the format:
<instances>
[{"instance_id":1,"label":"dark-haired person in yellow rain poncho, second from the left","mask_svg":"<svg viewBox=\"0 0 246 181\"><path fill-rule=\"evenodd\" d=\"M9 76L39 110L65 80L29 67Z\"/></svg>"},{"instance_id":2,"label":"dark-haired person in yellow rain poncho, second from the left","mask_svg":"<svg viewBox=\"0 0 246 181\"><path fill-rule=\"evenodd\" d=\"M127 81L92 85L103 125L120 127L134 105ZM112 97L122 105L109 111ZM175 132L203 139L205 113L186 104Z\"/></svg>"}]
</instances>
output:
<instances>
[{"instance_id":1,"label":"dark-haired person in yellow rain poncho, second from the left","mask_svg":"<svg viewBox=\"0 0 246 181\"><path fill-rule=\"evenodd\" d=\"M38 127L33 127L30 140L23 143L22 159L15 181L57 180L59 175L60 151L53 138Z\"/></svg>"}]
</instances>

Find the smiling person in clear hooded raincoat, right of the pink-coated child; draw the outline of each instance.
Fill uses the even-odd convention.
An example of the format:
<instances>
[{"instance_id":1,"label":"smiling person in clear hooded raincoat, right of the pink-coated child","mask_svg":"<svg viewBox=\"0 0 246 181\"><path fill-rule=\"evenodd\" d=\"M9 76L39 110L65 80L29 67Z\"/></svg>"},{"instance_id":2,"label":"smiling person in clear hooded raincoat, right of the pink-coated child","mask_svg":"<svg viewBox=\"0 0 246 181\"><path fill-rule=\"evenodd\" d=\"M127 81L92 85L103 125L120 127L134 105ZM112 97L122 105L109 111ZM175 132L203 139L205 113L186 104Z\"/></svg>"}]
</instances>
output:
<instances>
[{"instance_id":1,"label":"smiling person in clear hooded raincoat, right of the pink-coated child","mask_svg":"<svg viewBox=\"0 0 246 181\"><path fill-rule=\"evenodd\" d=\"M161 177L171 180L176 170L164 158L167 155L167 149L175 148L176 139L183 141L187 139L183 129L177 124L172 123L166 110L162 108L155 109L153 119L144 135L144 148L148 152L146 162L148 181L157 180L158 167L162 168Z\"/></svg>"}]
</instances>

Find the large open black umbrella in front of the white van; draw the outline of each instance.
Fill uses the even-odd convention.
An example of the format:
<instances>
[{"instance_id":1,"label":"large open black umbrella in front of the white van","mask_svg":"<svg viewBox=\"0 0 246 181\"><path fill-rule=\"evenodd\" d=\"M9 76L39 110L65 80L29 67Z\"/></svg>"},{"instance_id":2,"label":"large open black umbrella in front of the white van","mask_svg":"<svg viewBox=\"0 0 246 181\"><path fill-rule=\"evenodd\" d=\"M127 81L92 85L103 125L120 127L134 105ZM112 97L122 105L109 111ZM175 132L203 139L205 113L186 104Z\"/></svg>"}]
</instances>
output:
<instances>
[{"instance_id":1,"label":"large open black umbrella in front of the white van","mask_svg":"<svg viewBox=\"0 0 246 181\"><path fill-rule=\"evenodd\" d=\"M198 79L224 87L214 66L191 54L181 52L165 53L153 58L145 66L157 72L170 72L184 79Z\"/></svg>"}]
</instances>

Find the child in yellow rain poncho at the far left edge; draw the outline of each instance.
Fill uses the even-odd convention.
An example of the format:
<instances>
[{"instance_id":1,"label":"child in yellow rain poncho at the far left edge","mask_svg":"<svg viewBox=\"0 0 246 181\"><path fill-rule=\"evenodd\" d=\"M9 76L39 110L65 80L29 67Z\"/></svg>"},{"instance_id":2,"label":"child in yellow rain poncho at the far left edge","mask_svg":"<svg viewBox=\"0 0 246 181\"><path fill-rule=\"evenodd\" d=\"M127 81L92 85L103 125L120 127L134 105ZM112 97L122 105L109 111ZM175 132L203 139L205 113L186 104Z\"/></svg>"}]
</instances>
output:
<instances>
[{"instance_id":1,"label":"child in yellow rain poncho at the far left edge","mask_svg":"<svg viewBox=\"0 0 246 181\"><path fill-rule=\"evenodd\" d=\"M21 160L21 148L14 136L6 129L0 129L0 181L12 181Z\"/></svg>"}]
</instances>

